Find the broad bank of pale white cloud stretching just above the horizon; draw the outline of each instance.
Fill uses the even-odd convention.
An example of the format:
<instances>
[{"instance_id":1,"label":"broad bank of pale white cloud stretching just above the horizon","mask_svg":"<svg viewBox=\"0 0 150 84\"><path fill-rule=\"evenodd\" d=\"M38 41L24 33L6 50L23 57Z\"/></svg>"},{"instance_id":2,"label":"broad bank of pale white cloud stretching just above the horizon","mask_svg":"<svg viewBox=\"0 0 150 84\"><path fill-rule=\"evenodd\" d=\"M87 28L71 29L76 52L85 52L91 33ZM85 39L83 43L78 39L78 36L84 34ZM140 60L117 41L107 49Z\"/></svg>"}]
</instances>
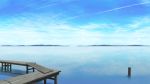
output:
<instances>
[{"instance_id":1,"label":"broad bank of pale white cloud stretching just above the horizon","mask_svg":"<svg viewBox=\"0 0 150 84\"><path fill-rule=\"evenodd\" d=\"M0 44L149 44L150 18L127 25L89 23L71 25L49 18L15 18L0 25Z\"/></svg>"}]
</instances>

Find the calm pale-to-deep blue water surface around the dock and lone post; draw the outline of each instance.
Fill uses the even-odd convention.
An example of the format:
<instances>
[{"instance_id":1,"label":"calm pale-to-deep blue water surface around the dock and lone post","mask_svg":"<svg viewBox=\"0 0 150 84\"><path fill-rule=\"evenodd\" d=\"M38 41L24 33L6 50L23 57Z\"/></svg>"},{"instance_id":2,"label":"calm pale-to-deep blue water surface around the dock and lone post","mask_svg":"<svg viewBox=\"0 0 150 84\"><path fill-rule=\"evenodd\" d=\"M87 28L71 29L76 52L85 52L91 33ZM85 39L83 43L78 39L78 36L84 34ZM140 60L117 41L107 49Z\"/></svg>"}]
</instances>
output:
<instances>
[{"instance_id":1,"label":"calm pale-to-deep blue water surface around the dock and lone post","mask_svg":"<svg viewBox=\"0 0 150 84\"><path fill-rule=\"evenodd\" d=\"M150 47L1 47L0 52L0 59L61 70L60 84L140 84L150 78ZM128 66L133 68L131 80Z\"/></svg>"}]
</instances>

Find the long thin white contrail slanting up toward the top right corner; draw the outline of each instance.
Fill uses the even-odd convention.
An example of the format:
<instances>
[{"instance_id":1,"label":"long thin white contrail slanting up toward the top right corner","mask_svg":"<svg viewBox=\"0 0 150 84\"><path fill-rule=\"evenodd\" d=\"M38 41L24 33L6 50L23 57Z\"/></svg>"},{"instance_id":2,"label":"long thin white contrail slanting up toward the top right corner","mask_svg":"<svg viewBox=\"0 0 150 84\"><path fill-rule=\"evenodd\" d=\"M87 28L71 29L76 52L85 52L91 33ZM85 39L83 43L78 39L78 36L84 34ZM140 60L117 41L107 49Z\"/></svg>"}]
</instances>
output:
<instances>
[{"instance_id":1,"label":"long thin white contrail slanting up toward the top right corner","mask_svg":"<svg viewBox=\"0 0 150 84\"><path fill-rule=\"evenodd\" d=\"M121 9L125 9L125 8L130 8L130 7L134 7L134 6L144 5L144 4L150 4L150 2L143 2L143 3L131 4L131 5L117 7L117 8L113 8L113 9L109 9L109 10L105 10L105 11L100 11L100 12L97 12L97 13L77 15L77 16L69 17L69 18L67 18L67 20L76 19L76 18L79 18L79 17L82 17L82 16L90 16L90 15L95 15L95 14L103 14L103 13L107 13L107 12L112 12L112 11L121 10Z\"/></svg>"}]
</instances>

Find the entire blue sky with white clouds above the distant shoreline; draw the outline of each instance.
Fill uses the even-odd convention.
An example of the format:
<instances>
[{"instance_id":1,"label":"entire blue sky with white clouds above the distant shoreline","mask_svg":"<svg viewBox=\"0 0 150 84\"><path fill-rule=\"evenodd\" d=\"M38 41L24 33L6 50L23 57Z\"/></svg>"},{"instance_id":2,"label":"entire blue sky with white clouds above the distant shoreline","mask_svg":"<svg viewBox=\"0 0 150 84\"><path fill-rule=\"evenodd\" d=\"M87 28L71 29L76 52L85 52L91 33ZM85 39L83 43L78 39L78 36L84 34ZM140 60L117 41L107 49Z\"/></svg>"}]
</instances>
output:
<instances>
[{"instance_id":1,"label":"entire blue sky with white clouds above the distant shoreline","mask_svg":"<svg viewBox=\"0 0 150 84\"><path fill-rule=\"evenodd\" d=\"M0 0L0 45L150 45L150 0Z\"/></svg>"}]
</instances>

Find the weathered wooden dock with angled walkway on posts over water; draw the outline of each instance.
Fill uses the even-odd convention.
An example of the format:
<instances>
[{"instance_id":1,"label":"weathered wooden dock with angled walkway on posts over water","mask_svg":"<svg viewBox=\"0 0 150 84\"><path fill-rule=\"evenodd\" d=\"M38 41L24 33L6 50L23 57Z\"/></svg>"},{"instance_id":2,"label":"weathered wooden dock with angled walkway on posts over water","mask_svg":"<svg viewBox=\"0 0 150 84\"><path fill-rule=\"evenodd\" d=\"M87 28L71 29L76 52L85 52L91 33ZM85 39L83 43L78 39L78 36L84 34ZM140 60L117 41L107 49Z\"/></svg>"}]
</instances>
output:
<instances>
[{"instance_id":1,"label":"weathered wooden dock with angled walkway on posts over water","mask_svg":"<svg viewBox=\"0 0 150 84\"><path fill-rule=\"evenodd\" d=\"M32 84L42 80L46 84L47 79L52 79L54 80L54 84L57 84L57 76L60 73L60 71L49 69L32 62L0 60L0 63L1 71L11 72L12 65L20 65L26 67L27 73L7 80L1 80L0 84ZM30 70L32 70L32 73L29 73Z\"/></svg>"}]
</instances>

